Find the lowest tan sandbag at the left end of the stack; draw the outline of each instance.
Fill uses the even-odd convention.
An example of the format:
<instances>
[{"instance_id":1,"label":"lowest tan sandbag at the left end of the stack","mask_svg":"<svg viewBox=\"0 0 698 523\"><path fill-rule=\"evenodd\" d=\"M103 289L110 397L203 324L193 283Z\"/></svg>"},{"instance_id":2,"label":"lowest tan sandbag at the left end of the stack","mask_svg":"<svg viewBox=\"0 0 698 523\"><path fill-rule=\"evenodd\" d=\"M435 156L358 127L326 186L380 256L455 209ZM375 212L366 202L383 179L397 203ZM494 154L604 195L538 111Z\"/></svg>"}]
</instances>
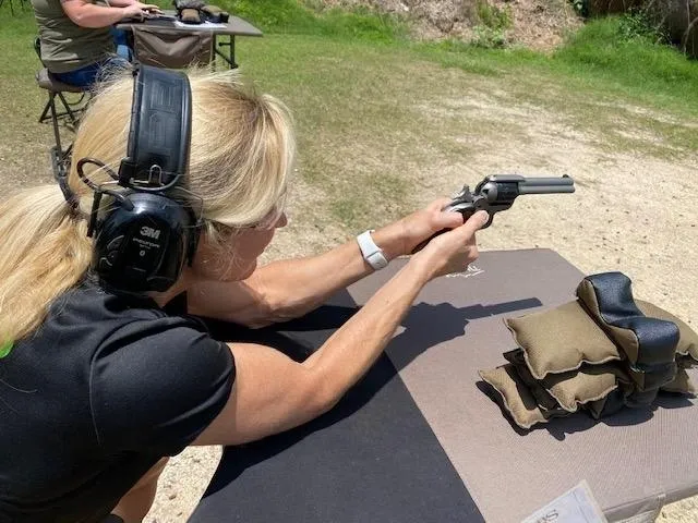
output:
<instances>
[{"instance_id":1,"label":"lowest tan sandbag at the left end of the stack","mask_svg":"<svg viewBox=\"0 0 698 523\"><path fill-rule=\"evenodd\" d=\"M491 370L480 370L479 374L483 381L497 391L504 410L521 428L529 429L537 423L546 423L551 417L568 414L562 409L542 411L510 363Z\"/></svg>"}]
</instances>

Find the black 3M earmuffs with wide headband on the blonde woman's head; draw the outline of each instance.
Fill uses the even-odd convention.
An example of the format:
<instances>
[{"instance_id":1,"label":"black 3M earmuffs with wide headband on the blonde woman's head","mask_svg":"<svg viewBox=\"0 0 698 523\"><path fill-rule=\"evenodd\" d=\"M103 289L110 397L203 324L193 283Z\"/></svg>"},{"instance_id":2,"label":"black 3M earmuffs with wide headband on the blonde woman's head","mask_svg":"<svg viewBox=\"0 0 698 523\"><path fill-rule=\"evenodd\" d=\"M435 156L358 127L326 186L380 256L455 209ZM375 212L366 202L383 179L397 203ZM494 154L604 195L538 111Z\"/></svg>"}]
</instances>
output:
<instances>
[{"instance_id":1,"label":"black 3M earmuffs with wide headband on the blonde woman's head","mask_svg":"<svg viewBox=\"0 0 698 523\"><path fill-rule=\"evenodd\" d=\"M81 179L95 190L91 231L93 270L117 291L166 291L196 250L200 222L186 192L191 137L191 87L186 75L140 65L134 72L127 157L119 173L83 158ZM113 179L92 184L85 163L101 165ZM103 194L113 200L97 219ZM183 197L189 194L190 198Z\"/></svg>"}]
</instances>

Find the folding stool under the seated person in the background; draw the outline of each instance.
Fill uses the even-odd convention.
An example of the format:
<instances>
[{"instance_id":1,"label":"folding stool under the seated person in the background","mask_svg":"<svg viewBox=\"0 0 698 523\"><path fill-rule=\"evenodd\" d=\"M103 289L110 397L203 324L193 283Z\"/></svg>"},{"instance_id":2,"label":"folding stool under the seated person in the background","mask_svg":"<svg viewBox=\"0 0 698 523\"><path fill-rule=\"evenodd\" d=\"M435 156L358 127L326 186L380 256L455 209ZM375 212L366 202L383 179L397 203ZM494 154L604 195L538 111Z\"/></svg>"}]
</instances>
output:
<instances>
[{"instance_id":1,"label":"folding stool under the seated person in the background","mask_svg":"<svg viewBox=\"0 0 698 523\"><path fill-rule=\"evenodd\" d=\"M40 40L37 37L34 40L34 50L39 57L39 60L41 58L40 46ZM49 73L48 69L46 68L36 73L36 83L40 88L48 92L48 101L46 102L44 111L39 117L39 123L44 123L50 120L53 125L53 137L56 139L56 145L51 147L50 155L53 175L58 178L64 175L68 172L73 148L72 144L70 144L67 148L63 148L59 130L59 119L68 118L73 130L76 129L80 120L80 112L84 109L85 106L85 95L88 92L82 87L75 87L73 85L68 85L59 82L51 75L51 73ZM80 94L81 96L77 101L71 102L65 99L63 93L75 93ZM59 105L62 107L59 107Z\"/></svg>"}]
</instances>

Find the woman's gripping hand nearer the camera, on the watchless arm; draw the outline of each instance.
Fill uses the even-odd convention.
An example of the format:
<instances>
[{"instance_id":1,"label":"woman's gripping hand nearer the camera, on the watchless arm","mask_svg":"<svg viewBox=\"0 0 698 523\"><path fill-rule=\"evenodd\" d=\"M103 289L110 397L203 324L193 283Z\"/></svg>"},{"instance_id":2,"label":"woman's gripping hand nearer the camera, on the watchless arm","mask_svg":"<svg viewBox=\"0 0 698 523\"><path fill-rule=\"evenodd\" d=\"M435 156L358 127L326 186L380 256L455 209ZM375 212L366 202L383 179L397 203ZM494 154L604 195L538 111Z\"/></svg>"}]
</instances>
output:
<instances>
[{"instance_id":1,"label":"woman's gripping hand nearer the camera, on the watchless arm","mask_svg":"<svg viewBox=\"0 0 698 523\"><path fill-rule=\"evenodd\" d=\"M424 267L430 280L465 270L478 259L476 231L486 223L488 218L486 211L479 210L462 226L432 239L412 256L413 263Z\"/></svg>"}]
</instances>

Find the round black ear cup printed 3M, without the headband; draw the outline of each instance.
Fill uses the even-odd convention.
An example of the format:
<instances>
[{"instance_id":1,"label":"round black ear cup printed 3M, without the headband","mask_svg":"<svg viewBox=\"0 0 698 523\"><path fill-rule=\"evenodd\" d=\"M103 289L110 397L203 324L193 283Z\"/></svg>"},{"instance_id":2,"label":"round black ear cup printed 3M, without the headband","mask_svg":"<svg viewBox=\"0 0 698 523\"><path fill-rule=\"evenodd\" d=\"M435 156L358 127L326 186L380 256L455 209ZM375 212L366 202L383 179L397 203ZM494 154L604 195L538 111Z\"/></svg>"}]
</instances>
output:
<instances>
[{"instance_id":1,"label":"round black ear cup printed 3M, without the headband","mask_svg":"<svg viewBox=\"0 0 698 523\"><path fill-rule=\"evenodd\" d=\"M191 264L197 239L186 207L160 194L124 194L97 224L93 270L121 291L166 291Z\"/></svg>"}]
</instances>

